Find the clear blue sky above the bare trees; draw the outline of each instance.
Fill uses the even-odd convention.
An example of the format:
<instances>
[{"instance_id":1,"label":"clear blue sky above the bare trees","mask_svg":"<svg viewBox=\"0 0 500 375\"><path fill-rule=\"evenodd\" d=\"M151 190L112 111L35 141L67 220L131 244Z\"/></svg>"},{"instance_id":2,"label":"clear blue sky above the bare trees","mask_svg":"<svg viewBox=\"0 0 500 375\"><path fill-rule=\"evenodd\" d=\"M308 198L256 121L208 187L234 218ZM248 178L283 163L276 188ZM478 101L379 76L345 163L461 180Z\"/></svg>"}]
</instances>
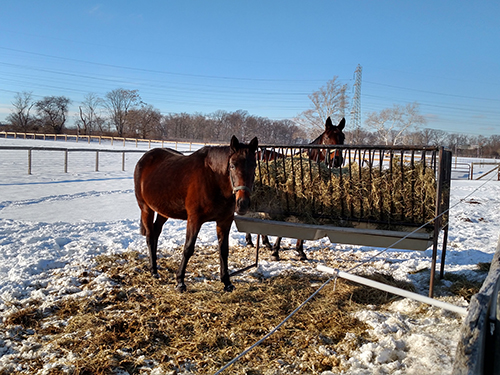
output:
<instances>
[{"instance_id":1,"label":"clear blue sky above the bare trees","mask_svg":"<svg viewBox=\"0 0 500 375\"><path fill-rule=\"evenodd\" d=\"M362 120L416 101L427 127L500 134L499 15L488 0L5 0L0 121L17 92L74 111L116 88L162 113L293 118L360 64Z\"/></svg>"}]
</instances>

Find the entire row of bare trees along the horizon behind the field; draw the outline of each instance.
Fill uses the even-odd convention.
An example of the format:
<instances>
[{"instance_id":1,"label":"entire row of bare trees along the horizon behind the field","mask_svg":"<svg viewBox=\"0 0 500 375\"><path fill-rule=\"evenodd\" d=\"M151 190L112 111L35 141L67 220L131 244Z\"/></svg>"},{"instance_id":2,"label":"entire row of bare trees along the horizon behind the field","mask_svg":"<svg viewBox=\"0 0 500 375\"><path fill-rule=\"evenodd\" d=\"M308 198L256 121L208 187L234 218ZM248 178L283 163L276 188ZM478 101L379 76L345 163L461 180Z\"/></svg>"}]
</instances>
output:
<instances>
[{"instance_id":1,"label":"entire row of bare trees along the horizon behind the field","mask_svg":"<svg viewBox=\"0 0 500 375\"><path fill-rule=\"evenodd\" d=\"M232 135L249 140L254 136L265 144L302 144L316 138L328 116L335 122L348 117L348 86L338 77L309 95L311 107L293 120L272 120L238 110L210 114L168 113L142 101L138 90L118 88L99 97L89 93L78 105L73 126L68 126L65 96L47 96L35 101L30 92L17 93L12 113L2 128L18 132L77 133L118 137L227 143ZM364 126L344 133L346 144L444 146L456 155L500 157L500 135L490 137L449 133L426 127L419 104L394 104L365 115Z\"/></svg>"}]
</instances>

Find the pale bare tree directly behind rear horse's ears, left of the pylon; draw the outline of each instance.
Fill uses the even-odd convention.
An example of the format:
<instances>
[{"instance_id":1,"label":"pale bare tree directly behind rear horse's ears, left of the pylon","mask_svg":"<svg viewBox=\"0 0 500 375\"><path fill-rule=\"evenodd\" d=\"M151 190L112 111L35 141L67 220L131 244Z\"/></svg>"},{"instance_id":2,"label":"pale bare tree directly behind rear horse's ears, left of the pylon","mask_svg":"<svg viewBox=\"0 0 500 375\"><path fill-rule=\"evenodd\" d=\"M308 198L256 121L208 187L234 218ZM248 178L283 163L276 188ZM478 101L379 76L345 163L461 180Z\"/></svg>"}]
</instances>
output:
<instances>
[{"instance_id":1,"label":"pale bare tree directly behind rear horse's ears, left of the pylon","mask_svg":"<svg viewBox=\"0 0 500 375\"><path fill-rule=\"evenodd\" d=\"M336 118L340 120L344 117L346 108L349 105L347 96L347 85L342 85L337 81L338 77L326 83L326 86L321 87L318 91L309 95L312 102L312 108L300 113L295 122L299 126L310 129L314 137L315 133L323 131L323 126L326 119L331 116L332 121Z\"/></svg>"}]
</instances>

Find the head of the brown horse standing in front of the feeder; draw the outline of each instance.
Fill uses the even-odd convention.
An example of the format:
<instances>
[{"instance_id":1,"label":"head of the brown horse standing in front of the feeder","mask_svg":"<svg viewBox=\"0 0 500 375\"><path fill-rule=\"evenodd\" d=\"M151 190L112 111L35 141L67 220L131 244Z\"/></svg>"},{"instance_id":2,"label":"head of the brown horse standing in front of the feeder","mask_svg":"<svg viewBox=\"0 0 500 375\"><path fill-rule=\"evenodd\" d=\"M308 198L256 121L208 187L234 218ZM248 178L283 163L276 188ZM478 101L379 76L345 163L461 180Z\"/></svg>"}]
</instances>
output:
<instances>
[{"instance_id":1,"label":"head of the brown horse standing in front of the feeder","mask_svg":"<svg viewBox=\"0 0 500 375\"><path fill-rule=\"evenodd\" d=\"M250 194L255 178L257 137L248 145L240 143L234 135L231 138L229 156L229 179L236 199L236 213L244 215L250 207Z\"/></svg>"}]
</instances>

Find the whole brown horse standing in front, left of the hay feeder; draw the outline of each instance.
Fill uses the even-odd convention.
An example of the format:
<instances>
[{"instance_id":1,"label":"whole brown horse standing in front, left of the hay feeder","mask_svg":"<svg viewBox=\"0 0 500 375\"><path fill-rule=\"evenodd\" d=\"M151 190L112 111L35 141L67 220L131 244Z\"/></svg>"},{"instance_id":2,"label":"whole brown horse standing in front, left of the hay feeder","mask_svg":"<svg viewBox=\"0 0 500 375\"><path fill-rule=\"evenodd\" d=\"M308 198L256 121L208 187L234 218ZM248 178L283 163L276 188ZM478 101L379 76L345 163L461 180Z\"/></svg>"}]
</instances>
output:
<instances>
[{"instance_id":1,"label":"whole brown horse standing in front, left of the hay feeder","mask_svg":"<svg viewBox=\"0 0 500 375\"><path fill-rule=\"evenodd\" d=\"M137 162L135 196L141 209L141 234L146 236L153 276L158 277L158 236L169 217L187 220L184 252L176 274L180 292L186 291L186 266L201 225L215 221L220 278L225 291L234 289L227 265L229 231L234 212L243 215L250 205L257 147L257 138L246 145L233 136L230 146L203 147L189 156L156 148Z\"/></svg>"}]
</instances>

